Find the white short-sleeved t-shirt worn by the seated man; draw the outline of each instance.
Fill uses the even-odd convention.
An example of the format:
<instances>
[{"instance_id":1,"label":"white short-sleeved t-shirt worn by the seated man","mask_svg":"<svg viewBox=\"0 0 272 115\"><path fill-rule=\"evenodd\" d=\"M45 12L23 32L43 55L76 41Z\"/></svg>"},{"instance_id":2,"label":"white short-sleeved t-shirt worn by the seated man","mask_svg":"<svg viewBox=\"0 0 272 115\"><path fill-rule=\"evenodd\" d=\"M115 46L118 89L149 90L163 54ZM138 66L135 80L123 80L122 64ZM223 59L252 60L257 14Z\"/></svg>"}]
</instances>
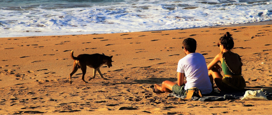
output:
<instances>
[{"instance_id":1,"label":"white short-sleeved t-shirt worn by the seated man","mask_svg":"<svg viewBox=\"0 0 272 115\"><path fill-rule=\"evenodd\" d=\"M184 73L187 83L184 89L198 87L202 94L212 92L205 58L200 53L190 53L179 60L177 72Z\"/></svg>"}]
</instances>

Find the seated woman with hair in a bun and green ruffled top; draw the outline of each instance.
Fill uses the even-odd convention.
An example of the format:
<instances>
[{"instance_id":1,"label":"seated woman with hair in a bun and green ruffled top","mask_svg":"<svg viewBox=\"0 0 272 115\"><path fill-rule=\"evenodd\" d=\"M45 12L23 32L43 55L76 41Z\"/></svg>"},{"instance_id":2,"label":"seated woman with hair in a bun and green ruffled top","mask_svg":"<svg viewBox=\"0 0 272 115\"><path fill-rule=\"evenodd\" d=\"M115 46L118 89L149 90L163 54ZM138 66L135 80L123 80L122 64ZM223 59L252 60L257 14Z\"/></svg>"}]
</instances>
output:
<instances>
[{"instance_id":1,"label":"seated woman with hair in a bun and green ruffled top","mask_svg":"<svg viewBox=\"0 0 272 115\"><path fill-rule=\"evenodd\" d=\"M207 66L211 83L215 82L220 91L239 91L246 87L245 79L242 76L242 62L240 55L231 52L234 47L233 38L229 32L219 39L217 46L220 53ZM217 64L221 63L222 68ZM220 72L223 70L225 76Z\"/></svg>"}]
</instances>

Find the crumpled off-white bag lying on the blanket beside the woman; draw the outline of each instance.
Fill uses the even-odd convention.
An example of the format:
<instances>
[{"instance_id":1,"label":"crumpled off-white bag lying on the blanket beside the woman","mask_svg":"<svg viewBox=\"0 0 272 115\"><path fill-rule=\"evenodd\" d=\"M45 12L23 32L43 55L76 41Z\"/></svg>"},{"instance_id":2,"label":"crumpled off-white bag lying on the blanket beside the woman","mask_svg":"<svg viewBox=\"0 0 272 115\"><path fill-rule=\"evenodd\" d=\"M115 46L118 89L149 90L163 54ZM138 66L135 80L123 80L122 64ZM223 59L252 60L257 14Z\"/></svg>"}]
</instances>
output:
<instances>
[{"instance_id":1,"label":"crumpled off-white bag lying on the blanket beside the woman","mask_svg":"<svg viewBox=\"0 0 272 115\"><path fill-rule=\"evenodd\" d=\"M257 90L257 91L246 91L244 97L241 100L266 100L268 101L267 97L264 95L264 89Z\"/></svg>"}]
</instances>

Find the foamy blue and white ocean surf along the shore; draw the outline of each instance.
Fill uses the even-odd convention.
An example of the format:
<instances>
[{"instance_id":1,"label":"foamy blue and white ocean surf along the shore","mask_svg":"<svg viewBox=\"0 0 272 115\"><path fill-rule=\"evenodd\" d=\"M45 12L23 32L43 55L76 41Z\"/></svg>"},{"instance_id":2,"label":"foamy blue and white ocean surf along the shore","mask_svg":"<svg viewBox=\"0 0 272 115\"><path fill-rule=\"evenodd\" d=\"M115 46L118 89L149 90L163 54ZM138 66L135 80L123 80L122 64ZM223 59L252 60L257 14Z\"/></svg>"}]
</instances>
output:
<instances>
[{"instance_id":1,"label":"foamy blue and white ocean surf along the shore","mask_svg":"<svg viewBox=\"0 0 272 115\"><path fill-rule=\"evenodd\" d=\"M172 30L272 20L272 0L0 0L0 37Z\"/></svg>"}]
</instances>

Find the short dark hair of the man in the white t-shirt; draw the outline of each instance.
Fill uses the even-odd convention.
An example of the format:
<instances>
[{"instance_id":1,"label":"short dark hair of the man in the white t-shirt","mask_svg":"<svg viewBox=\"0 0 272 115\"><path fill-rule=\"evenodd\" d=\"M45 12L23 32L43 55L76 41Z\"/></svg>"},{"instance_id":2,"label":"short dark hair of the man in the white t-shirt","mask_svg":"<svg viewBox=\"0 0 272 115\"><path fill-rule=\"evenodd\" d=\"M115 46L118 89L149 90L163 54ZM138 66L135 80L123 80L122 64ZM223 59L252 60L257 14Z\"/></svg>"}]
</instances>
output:
<instances>
[{"instance_id":1,"label":"short dark hair of the man in the white t-shirt","mask_svg":"<svg viewBox=\"0 0 272 115\"><path fill-rule=\"evenodd\" d=\"M196 40L193 38L187 38L183 42L183 47L187 49L190 53L196 52Z\"/></svg>"}]
</instances>

